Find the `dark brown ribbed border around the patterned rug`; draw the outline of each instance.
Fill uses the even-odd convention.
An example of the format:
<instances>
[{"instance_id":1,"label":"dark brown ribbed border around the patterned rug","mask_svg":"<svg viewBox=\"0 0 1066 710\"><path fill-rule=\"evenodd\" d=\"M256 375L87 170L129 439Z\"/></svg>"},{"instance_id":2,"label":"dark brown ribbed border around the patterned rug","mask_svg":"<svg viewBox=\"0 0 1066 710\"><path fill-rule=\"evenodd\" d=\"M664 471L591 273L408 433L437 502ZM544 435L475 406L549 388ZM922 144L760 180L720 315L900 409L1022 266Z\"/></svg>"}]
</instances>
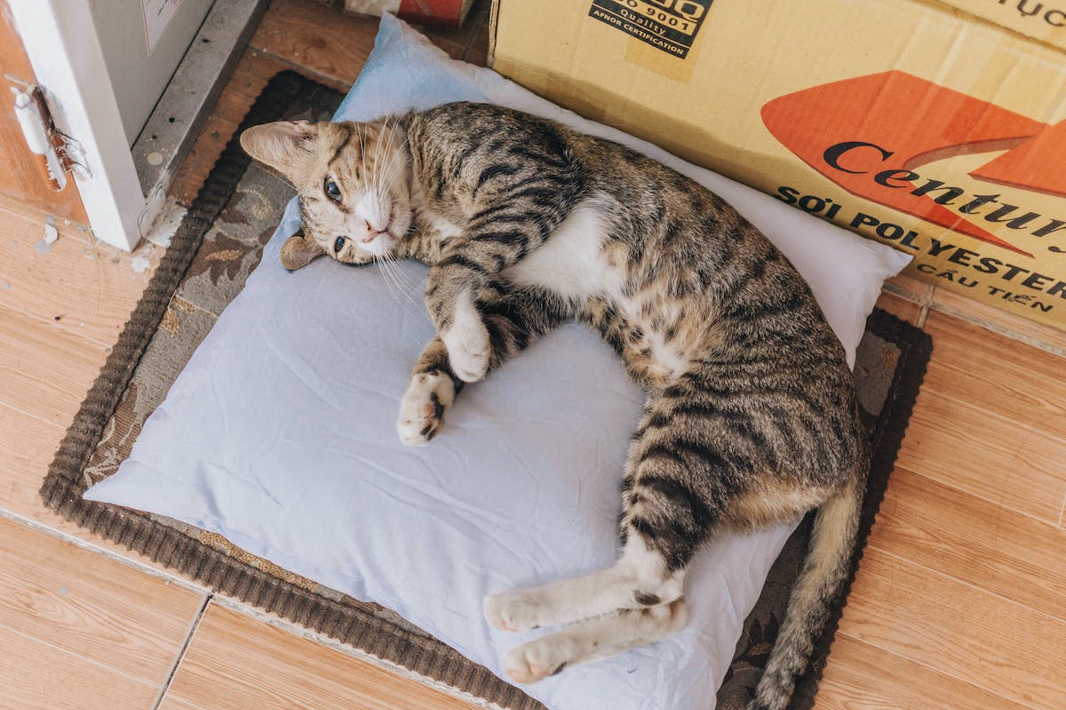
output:
<instances>
[{"instance_id":1,"label":"dark brown ribbed border around the patterned rug","mask_svg":"<svg viewBox=\"0 0 1066 710\"><path fill-rule=\"evenodd\" d=\"M287 106L302 92L314 89L335 92L287 69L275 75L253 103L190 207L118 342L67 429L48 468L41 488L41 497L47 508L65 519L203 582L216 593L287 618L463 694L510 710L543 709L543 705L497 678L487 668L468 659L457 660L454 656L440 653L435 646L440 642L421 643L386 620L280 580L143 513L82 498L85 491L82 472L99 444L104 427L117 408L141 356L158 329L205 234L232 196L251 163L251 159L240 147L240 134L249 126L278 119L278 106ZM892 416L885 416L889 410L883 409L873 432L875 441L881 445L873 451L860 538L856 544L843 602L835 610L826 633L815 648L808 672L797 683L797 695L804 690L807 693L803 693L805 699L802 705L793 703L793 710L810 710L813 705L813 694L810 691L817 690L821 680L833 635L846 606L851 581L884 497L888 475L932 352L932 339L927 333L884 311L874 310L867 328L887 340L903 336L908 340L893 340L901 350L901 363L890 389L894 396L885 404L885 408L891 408ZM893 430L889 427L889 422L902 422L903 426ZM887 445L889 443L891 446ZM453 681L441 680L445 677L451 677ZM806 699L808 694L809 699Z\"/></svg>"}]
</instances>

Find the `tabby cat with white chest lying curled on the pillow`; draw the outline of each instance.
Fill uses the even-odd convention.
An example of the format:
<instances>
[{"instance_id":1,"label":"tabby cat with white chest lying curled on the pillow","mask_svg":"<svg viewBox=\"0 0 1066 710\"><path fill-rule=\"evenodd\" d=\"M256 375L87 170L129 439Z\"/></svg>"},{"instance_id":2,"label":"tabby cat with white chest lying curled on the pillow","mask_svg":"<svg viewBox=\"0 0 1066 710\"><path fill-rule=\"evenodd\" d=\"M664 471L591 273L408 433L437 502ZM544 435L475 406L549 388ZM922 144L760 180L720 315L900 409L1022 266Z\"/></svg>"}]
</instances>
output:
<instances>
[{"instance_id":1,"label":"tabby cat with white chest lying curled on the pillow","mask_svg":"<svg viewBox=\"0 0 1066 710\"><path fill-rule=\"evenodd\" d=\"M821 507L749 708L781 709L847 577L868 453L844 351L788 260L716 195L620 145L517 111L450 103L367 123L278 122L241 137L296 187L286 268L414 258L437 329L400 404L426 444L465 383L568 319L647 392L617 563L485 599L533 682L685 624L685 567L717 535Z\"/></svg>"}]
</instances>

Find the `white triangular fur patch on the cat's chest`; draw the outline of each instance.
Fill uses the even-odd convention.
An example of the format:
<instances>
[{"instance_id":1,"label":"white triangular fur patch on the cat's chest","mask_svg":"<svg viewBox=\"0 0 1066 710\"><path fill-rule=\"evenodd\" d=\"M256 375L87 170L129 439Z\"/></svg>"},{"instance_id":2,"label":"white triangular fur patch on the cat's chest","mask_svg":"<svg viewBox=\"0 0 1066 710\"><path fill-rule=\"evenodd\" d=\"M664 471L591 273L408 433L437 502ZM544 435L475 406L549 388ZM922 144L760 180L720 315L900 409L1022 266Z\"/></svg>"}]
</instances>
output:
<instances>
[{"instance_id":1,"label":"white triangular fur patch on the cat's chest","mask_svg":"<svg viewBox=\"0 0 1066 710\"><path fill-rule=\"evenodd\" d=\"M597 198L583 200L548 241L508 268L503 276L515 283L548 288L581 301L594 294L617 299L625 277L603 254L607 228Z\"/></svg>"}]
</instances>

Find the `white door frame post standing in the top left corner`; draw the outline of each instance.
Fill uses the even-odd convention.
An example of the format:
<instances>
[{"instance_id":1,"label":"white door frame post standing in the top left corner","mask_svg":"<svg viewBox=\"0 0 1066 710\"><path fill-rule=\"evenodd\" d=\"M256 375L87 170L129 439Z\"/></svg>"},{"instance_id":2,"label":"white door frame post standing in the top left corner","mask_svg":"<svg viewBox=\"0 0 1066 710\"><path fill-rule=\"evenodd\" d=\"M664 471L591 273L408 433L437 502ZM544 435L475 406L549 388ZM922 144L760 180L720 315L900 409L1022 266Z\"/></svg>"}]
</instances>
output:
<instances>
[{"instance_id":1,"label":"white door frame post standing in the top left corner","mask_svg":"<svg viewBox=\"0 0 1066 710\"><path fill-rule=\"evenodd\" d=\"M75 176L93 233L131 251L163 207L141 191L90 0L9 0L55 126L84 150Z\"/></svg>"}]
</instances>

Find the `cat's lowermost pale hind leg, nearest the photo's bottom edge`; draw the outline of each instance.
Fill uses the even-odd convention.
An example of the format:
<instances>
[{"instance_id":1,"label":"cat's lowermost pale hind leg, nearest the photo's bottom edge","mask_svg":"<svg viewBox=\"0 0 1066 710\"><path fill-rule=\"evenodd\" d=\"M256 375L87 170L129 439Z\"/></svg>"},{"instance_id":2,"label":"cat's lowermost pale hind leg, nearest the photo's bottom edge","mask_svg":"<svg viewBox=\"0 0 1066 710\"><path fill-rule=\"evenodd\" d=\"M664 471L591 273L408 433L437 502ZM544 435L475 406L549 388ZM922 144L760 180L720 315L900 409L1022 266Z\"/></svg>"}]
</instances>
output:
<instances>
[{"instance_id":1,"label":"cat's lowermost pale hind leg, nearest the photo's bottom edge","mask_svg":"<svg viewBox=\"0 0 1066 710\"><path fill-rule=\"evenodd\" d=\"M536 682L570 665L662 641L680 631L687 621L684 600L676 599L578 622L512 648L503 657L503 671L515 682Z\"/></svg>"}]
</instances>

